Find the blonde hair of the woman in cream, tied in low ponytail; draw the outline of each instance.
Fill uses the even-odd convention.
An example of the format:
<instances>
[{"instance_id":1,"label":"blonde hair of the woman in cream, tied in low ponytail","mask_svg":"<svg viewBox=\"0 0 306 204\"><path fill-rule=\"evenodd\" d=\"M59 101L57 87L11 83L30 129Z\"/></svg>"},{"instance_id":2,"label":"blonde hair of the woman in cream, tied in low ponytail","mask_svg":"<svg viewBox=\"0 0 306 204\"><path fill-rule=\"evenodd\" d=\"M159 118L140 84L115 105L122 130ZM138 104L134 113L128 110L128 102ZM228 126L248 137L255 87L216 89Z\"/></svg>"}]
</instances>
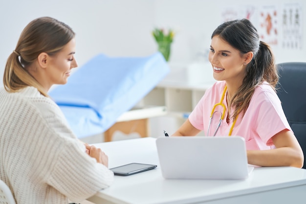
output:
<instances>
[{"instance_id":1,"label":"blonde hair of the woman in cream, tied in low ponytail","mask_svg":"<svg viewBox=\"0 0 306 204\"><path fill-rule=\"evenodd\" d=\"M74 37L75 33L68 25L50 17L37 18L27 24L6 62L3 75L5 90L16 92L32 86L47 96L42 85L27 68L35 62L40 53L46 52L52 56L61 51Z\"/></svg>"}]
</instances>

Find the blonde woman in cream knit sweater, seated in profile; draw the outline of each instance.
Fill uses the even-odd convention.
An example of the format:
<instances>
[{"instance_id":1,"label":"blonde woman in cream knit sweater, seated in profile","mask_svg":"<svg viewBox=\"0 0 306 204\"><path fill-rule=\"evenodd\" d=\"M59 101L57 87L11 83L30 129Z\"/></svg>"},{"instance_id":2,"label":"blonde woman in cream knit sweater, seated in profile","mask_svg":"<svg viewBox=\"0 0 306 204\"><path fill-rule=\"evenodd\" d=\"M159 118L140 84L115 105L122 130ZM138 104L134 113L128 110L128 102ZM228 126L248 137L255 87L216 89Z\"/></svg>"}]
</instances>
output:
<instances>
[{"instance_id":1,"label":"blonde woman in cream knit sweater, seated in profile","mask_svg":"<svg viewBox=\"0 0 306 204\"><path fill-rule=\"evenodd\" d=\"M8 57L0 89L0 179L17 204L79 203L113 181L107 155L80 142L47 95L77 67L74 53L72 29L43 17L24 28Z\"/></svg>"}]
</instances>

